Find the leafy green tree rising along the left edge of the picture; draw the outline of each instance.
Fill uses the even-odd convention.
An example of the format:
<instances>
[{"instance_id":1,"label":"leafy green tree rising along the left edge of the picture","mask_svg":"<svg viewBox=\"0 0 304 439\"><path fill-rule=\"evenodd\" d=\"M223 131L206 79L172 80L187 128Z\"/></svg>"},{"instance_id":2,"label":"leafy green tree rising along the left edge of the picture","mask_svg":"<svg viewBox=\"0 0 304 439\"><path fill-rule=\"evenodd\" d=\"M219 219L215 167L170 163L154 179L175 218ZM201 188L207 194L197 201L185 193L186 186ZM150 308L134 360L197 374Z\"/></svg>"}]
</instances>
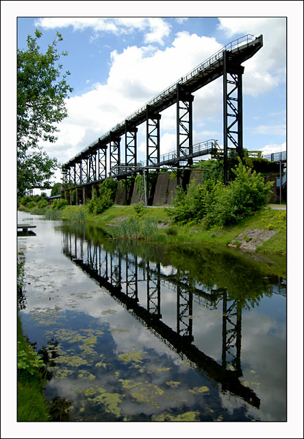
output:
<instances>
[{"instance_id":1,"label":"leafy green tree rising along the left edge of the picture","mask_svg":"<svg viewBox=\"0 0 304 439\"><path fill-rule=\"evenodd\" d=\"M39 141L54 143L58 123L67 116L65 100L73 88L66 82L70 72L61 74L57 44L62 41L59 32L43 54L37 44L42 32L27 36L27 50L17 52L17 187L18 196L32 186L49 185L53 171L58 167Z\"/></svg>"}]
</instances>

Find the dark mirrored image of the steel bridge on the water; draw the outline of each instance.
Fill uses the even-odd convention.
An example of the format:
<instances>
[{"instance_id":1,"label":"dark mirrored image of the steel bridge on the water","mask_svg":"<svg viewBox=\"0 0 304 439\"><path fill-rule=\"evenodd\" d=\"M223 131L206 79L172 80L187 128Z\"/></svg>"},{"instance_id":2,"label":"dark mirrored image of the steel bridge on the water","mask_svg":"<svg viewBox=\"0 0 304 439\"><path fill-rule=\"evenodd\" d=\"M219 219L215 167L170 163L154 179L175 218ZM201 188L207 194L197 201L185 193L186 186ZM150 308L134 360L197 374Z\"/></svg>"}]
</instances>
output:
<instances>
[{"instance_id":1,"label":"dark mirrored image of the steel bridge on the water","mask_svg":"<svg viewBox=\"0 0 304 439\"><path fill-rule=\"evenodd\" d=\"M84 234L64 231L63 236L66 257L105 287L144 327L204 376L220 384L222 392L229 391L259 407L255 392L240 381L242 307L238 300L229 298L229 292L225 289L204 291L179 269L166 274L160 263L134 254L108 252L100 244L86 240ZM175 292L175 328L162 316L161 292L165 288ZM192 318L194 307L216 309L220 302L223 310L221 364L195 346Z\"/></svg>"}]
</instances>

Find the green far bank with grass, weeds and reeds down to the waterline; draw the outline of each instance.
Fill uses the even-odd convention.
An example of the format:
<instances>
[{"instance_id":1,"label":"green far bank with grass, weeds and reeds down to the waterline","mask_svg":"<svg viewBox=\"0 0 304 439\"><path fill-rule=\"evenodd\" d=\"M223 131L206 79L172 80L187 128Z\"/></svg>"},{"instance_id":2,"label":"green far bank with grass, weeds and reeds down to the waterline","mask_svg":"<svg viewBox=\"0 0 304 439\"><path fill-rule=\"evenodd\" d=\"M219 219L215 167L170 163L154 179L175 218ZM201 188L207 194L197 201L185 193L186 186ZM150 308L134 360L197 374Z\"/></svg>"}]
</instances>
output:
<instances>
[{"instance_id":1,"label":"green far bank with grass, weeds and reeds down to the waterline","mask_svg":"<svg viewBox=\"0 0 304 439\"><path fill-rule=\"evenodd\" d=\"M170 216L172 207L113 205L100 214L90 213L88 206L63 206L61 209L36 209L32 214L47 219L96 224L110 239L143 240L160 243L229 245L248 228L275 230L277 234L255 250L258 253L286 255L286 211L266 206L241 219L238 224L206 228L203 221L176 223ZM21 209L25 211L26 209Z\"/></svg>"}]
</instances>

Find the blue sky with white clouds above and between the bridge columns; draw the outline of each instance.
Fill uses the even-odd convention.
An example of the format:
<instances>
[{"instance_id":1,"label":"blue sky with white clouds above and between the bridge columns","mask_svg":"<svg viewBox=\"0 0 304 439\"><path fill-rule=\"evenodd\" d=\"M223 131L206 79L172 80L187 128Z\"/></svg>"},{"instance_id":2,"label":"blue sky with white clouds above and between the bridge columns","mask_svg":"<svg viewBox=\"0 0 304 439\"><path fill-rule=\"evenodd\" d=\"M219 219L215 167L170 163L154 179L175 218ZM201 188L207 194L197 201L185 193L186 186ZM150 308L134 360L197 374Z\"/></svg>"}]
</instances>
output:
<instances>
[{"instance_id":1,"label":"blue sky with white clouds above and between the bridge columns","mask_svg":"<svg viewBox=\"0 0 304 439\"><path fill-rule=\"evenodd\" d=\"M42 31L45 50L58 30L68 82L68 117L55 145L42 144L61 163L120 123L149 99L232 40L264 36L264 47L243 63L243 130L248 150L286 150L286 18L273 17L19 17L18 47ZM175 150L175 106L162 112L160 152ZM193 142L223 145L223 78L194 93ZM138 158L145 158L145 124ZM124 140L122 139L122 142Z\"/></svg>"}]
</instances>

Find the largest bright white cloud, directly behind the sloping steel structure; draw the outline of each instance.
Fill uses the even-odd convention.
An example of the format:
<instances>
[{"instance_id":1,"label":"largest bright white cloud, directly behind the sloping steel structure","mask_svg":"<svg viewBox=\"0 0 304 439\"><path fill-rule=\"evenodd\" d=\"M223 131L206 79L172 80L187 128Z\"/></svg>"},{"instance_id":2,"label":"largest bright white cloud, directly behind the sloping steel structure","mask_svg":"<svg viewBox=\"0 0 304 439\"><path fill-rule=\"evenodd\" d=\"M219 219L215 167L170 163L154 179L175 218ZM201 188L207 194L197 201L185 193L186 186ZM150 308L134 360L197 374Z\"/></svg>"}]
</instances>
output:
<instances>
[{"instance_id":1,"label":"largest bright white cloud, directly behind the sloping steel structure","mask_svg":"<svg viewBox=\"0 0 304 439\"><path fill-rule=\"evenodd\" d=\"M83 150L220 47L214 38L180 32L173 44L163 50L148 45L127 47L121 53L113 51L106 84L94 84L88 93L67 100L68 118L60 123L61 132L56 143L58 160L62 163L68 161L73 157L67 157L68 151L73 150L77 154ZM198 114L205 117L210 115L210 111L216 112L220 108L220 90L221 83L212 83L205 87L203 93L197 92L194 98L195 117ZM161 154L165 154L176 149L175 106L162 112L160 127ZM198 139L201 140L205 139ZM142 148L141 145L139 151Z\"/></svg>"}]
</instances>

